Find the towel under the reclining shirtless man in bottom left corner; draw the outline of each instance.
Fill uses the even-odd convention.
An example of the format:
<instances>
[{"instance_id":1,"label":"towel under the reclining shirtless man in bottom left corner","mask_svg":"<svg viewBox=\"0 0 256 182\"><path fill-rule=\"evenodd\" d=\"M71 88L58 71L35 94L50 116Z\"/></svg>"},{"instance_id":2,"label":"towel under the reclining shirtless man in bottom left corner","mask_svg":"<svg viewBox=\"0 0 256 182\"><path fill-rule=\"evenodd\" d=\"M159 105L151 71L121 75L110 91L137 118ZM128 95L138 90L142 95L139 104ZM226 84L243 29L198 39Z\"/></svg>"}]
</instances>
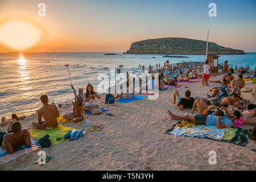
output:
<instances>
[{"instance_id":1,"label":"towel under the reclining shirtless man in bottom left corner","mask_svg":"<svg viewBox=\"0 0 256 182\"><path fill-rule=\"evenodd\" d=\"M22 149L19 149L18 151L15 151L13 154L7 154L5 150L3 150L2 147L0 147L0 166L10 162L11 160L14 160L16 158L19 158L22 155L28 154L32 151L36 151L41 146L38 144L36 140L31 139L31 146L30 147L25 147Z\"/></svg>"}]
</instances>

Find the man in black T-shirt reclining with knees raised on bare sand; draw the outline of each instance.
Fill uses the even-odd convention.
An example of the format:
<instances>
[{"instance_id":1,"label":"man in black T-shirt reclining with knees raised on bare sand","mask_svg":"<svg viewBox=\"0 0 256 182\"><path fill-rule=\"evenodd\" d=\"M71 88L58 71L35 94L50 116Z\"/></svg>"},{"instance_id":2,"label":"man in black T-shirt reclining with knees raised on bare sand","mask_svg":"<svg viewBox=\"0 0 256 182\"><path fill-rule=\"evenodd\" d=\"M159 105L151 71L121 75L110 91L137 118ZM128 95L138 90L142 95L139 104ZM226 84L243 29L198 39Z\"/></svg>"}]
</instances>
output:
<instances>
[{"instance_id":1,"label":"man in black T-shirt reclining with knees raised on bare sand","mask_svg":"<svg viewBox=\"0 0 256 182\"><path fill-rule=\"evenodd\" d=\"M185 91L185 98L181 98L179 92L177 90L174 90L174 101L172 103L176 104L176 100L179 102L177 104L177 109L183 110L184 108L191 108L193 106L193 103L195 99L191 96L190 90Z\"/></svg>"}]
</instances>

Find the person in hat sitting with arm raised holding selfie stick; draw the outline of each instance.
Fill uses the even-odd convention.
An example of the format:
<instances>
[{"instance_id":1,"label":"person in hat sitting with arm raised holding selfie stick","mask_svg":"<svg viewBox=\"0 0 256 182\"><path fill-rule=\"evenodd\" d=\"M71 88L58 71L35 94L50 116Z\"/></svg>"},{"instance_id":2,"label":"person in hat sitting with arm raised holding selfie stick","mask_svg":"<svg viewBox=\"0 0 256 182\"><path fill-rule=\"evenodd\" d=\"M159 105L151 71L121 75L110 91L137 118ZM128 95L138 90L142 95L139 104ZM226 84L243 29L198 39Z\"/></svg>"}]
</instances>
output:
<instances>
[{"instance_id":1,"label":"person in hat sitting with arm raised holding selfie stick","mask_svg":"<svg viewBox=\"0 0 256 182\"><path fill-rule=\"evenodd\" d=\"M64 114L63 118L72 120L73 122L82 121L84 120L84 106L82 105L83 99L81 96L77 96L73 85L71 85L71 88L73 89L75 95L75 100L72 101L73 113Z\"/></svg>"}]
</instances>

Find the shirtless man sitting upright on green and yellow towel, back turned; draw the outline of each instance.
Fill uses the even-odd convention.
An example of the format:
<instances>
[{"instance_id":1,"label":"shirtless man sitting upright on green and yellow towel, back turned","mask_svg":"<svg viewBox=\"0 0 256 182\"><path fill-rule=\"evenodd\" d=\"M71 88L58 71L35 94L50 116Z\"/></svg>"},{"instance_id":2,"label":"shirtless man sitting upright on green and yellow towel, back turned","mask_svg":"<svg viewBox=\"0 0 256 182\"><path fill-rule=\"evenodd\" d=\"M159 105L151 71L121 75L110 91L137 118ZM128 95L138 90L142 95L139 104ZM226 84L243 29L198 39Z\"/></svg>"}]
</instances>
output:
<instances>
[{"instance_id":1,"label":"shirtless man sitting upright on green and yellow towel, back turned","mask_svg":"<svg viewBox=\"0 0 256 182\"><path fill-rule=\"evenodd\" d=\"M57 117L59 117L60 114L56 105L48 104L47 95L41 96L40 100L43 103L43 107L38 111L38 122L32 122L32 125L43 130L49 130L57 127ZM42 115L44 117L44 121L42 121Z\"/></svg>"}]
</instances>

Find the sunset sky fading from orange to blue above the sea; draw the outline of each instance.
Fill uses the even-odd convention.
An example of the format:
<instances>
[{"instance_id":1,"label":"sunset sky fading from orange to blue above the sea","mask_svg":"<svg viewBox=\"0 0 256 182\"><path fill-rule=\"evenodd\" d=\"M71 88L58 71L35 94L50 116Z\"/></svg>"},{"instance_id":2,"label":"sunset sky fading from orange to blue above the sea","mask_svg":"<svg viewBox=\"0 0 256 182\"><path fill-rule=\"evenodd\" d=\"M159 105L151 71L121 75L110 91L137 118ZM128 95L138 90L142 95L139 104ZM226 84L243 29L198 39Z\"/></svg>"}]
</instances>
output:
<instances>
[{"instance_id":1,"label":"sunset sky fading from orange to blue above the sea","mask_svg":"<svg viewBox=\"0 0 256 182\"><path fill-rule=\"evenodd\" d=\"M45 17L38 16L41 2ZM14 20L34 29L6 26ZM255 22L255 0L0 0L0 52L125 52L144 39L207 40L207 30L209 42L256 52Z\"/></svg>"}]
</instances>

